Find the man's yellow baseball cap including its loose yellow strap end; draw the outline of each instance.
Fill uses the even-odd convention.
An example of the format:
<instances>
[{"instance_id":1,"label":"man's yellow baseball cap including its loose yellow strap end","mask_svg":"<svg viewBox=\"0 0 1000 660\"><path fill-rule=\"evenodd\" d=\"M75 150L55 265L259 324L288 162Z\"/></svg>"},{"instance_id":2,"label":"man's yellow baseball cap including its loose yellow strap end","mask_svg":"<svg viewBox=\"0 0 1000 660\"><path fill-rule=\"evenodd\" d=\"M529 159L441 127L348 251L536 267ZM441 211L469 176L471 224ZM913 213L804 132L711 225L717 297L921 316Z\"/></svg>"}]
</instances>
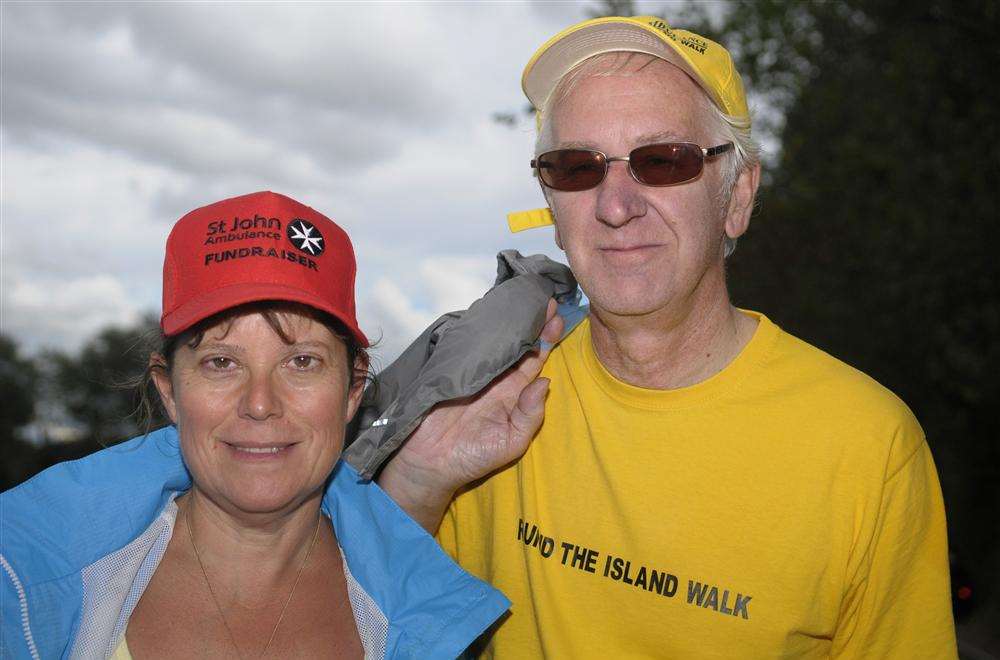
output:
<instances>
[{"instance_id":1,"label":"man's yellow baseball cap including its loose yellow strap end","mask_svg":"<svg viewBox=\"0 0 1000 660\"><path fill-rule=\"evenodd\" d=\"M573 25L546 41L521 76L525 95L539 110L563 76L587 58L612 52L647 53L680 68L727 115L750 122L743 81L725 48L688 30L676 30L656 16L609 16ZM552 224L548 209L510 213L512 232Z\"/></svg>"}]
</instances>

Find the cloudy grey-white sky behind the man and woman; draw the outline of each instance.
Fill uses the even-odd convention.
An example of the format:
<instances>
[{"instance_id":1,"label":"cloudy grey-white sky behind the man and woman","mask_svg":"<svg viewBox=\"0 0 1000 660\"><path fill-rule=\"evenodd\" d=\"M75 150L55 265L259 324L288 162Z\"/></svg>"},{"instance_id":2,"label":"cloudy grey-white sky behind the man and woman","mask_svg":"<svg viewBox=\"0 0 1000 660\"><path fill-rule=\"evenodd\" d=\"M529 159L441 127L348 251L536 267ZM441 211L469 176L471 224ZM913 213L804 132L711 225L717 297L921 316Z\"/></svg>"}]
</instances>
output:
<instances>
[{"instance_id":1,"label":"cloudy grey-white sky behind the man and woman","mask_svg":"<svg viewBox=\"0 0 1000 660\"><path fill-rule=\"evenodd\" d=\"M172 224L273 190L351 236L384 366L501 249L563 258L551 229L508 232L544 204L534 126L492 116L595 4L4 2L0 332L73 351L159 314Z\"/></svg>"}]
</instances>

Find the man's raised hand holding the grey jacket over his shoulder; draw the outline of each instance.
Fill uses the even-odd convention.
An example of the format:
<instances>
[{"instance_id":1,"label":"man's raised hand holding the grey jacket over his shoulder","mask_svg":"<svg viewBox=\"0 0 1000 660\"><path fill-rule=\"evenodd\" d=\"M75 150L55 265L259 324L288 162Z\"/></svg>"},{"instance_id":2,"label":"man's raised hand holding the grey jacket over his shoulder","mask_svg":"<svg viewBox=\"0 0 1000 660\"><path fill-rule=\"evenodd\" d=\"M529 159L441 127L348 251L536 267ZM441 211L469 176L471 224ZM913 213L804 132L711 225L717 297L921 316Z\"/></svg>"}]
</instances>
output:
<instances>
[{"instance_id":1,"label":"man's raised hand holding the grey jacket over his shoulder","mask_svg":"<svg viewBox=\"0 0 1000 660\"><path fill-rule=\"evenodd\" d=\"M541 338L555 343L563 321L549 301ZM545 415L548 351L526 354L479 394L436 406L378 478L379 485L431 534L455 491L519 458Z\"/></svg>"}]
</instances>

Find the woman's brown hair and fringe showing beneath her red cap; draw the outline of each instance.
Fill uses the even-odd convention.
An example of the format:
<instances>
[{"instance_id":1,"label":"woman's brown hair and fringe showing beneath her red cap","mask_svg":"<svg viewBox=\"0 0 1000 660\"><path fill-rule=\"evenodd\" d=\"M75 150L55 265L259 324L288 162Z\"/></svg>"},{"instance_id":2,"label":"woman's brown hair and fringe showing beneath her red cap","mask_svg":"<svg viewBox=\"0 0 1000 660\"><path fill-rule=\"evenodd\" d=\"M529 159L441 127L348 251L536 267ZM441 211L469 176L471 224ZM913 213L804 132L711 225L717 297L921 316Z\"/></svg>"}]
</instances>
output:
<instances>
[{"instance_id":1,"label":"woman's brown hair and fringe showing beneath her red cap","mask_svg":"<svg viewBox=\"0 0 1000 660\"><path fill-rule=\"evenodd\" d=\"M205 338L205 332L209 328L225 324L223 335L228 334L236 317L253 313L262 315L281 341L286 344L293 344L295 343L295 338L289 332L286 327L287 324L282 318L284 314L289 312L301 314L317 323L322 323L335 337L344 342L344 347L347 349L347 377L351 387L358 384L359 381L365 383L371 382L372 376L369 370L371 360L368 351L354 338L340 319L332 314L302 303L281 300L252 302L219 312L198 322L184 332L171 337L164 335L162 332L160 333L158 350L154 351L153 355L159 356L161 359L150 359L142 376L135 383L139 399L139 406L136 411L139 428L143 429L144 433L148 435L153 430L153 425L159 416L167 417L163 401L160 399L159 392L153 384L153 374L161 371L167 376L170 375L173 369L174 355L177 353L178 348L181 346L187 346L192 349L198 348Z\"/></svg>"}]
</instances>

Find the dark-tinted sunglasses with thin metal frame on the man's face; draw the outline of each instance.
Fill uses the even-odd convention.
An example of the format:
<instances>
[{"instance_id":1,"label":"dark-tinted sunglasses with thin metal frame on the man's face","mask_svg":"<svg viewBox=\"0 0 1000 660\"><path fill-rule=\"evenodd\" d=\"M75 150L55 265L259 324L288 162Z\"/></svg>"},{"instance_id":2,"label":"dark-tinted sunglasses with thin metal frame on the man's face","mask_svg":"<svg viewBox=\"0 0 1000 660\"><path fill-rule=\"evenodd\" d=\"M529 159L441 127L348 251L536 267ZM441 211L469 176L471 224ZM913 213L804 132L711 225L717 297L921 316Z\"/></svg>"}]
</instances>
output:
<instances>
[{"instance_id":1,"label":"dark-tinted sunglasses with thin metal frame on the man's face","mask_svg":"<svg viewBox=\"0 0 1000 660\"><path fill-rule=\"evenodd\" d=\"M608 163L628 163L632 178L647 186L673 186L695 179L705 159L733 148L732 142L705 149L691 142L661 142L633 149L628 156L609 157L591 149L556 149L531 161L547 187L564 192L589 190L608 175Z\"/></svg>"}]
</instances>

